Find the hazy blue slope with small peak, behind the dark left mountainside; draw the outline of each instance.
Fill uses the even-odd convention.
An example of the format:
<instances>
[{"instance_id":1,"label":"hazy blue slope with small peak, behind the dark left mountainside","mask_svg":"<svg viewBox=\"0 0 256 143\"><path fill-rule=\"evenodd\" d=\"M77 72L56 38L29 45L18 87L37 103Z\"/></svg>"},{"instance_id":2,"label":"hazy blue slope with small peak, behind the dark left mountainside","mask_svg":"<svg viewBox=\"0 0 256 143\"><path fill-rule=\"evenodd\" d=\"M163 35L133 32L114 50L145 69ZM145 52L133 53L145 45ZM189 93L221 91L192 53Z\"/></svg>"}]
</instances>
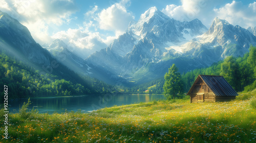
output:
<instances>
[{"instance_id":1,"label":"hazy blue slope with small peak, behind the dark left mountainside","mask_svg":"<svg viewBox=\"0 0 256 143\"><path fill-rule=\"evenodd\" d=\"M90 76L111 84L120 83L127 85L126 80L121 77L112 74L103 67L94 66L92 63L83 60L73 53L72 48L60 39L55 39L50 45L44 44L43 47L60 63L69 67L79 75Z\"/></svg>"}]
</instances>

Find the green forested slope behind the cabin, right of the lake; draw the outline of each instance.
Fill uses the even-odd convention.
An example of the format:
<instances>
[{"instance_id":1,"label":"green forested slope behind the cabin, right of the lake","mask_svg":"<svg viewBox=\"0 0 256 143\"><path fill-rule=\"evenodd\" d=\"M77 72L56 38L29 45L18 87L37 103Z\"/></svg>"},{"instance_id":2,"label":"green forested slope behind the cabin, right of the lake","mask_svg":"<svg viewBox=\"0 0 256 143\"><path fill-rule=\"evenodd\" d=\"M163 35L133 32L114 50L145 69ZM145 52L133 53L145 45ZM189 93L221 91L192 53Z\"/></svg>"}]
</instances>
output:
<instances>
[{"instance_id":1,"label":"green forested slope behind the cabin, right of the lake","mask_svg":"<svg viewBox=\"0 0 256 143\"><path fill-rule=\"evenodd\" d=\"M256 88L256 47L250 46L243 57L226 57L209 67L198 68L183 73L181 78L186 93L198 75L220 75L237 91L250 91ZM164 77L133 87L130 93L163 93ZM146 91L146 92L145 92Z\"/></svg>"}]
</instances>

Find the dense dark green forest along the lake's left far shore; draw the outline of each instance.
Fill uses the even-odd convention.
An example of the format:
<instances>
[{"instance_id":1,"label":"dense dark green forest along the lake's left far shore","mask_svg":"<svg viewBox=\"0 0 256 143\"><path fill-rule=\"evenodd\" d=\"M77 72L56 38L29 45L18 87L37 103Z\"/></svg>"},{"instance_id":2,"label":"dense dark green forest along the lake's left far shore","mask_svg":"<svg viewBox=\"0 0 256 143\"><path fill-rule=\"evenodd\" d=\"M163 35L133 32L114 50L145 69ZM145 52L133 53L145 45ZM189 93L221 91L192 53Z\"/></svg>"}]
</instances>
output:
<instances>
[{"instance_id":1,"label":"dense dark green forest along the lake's left far shore","mask_svg":"<svg viewBox=\"0 0 256 143\"><path fill-rule=\"evenodd\" d=\"M4 85L8 86L9 98L12 99L116 92L114 86L90 77L79 77L79 81L74 83L56 75L39 74L39 70L34 67L2 53L0 54L0 87Z\"/></svg>"}]
</instances>

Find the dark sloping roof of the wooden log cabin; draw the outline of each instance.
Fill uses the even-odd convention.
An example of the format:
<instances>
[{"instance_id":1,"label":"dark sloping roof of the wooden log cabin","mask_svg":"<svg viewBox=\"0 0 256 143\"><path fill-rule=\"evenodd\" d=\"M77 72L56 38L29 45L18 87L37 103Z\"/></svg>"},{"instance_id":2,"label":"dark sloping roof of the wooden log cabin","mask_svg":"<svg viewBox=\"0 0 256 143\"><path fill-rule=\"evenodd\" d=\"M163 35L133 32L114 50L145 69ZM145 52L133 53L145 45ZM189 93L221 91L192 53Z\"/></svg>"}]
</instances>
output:
<instances>
[{"instance_id":1,"label":"dark sloping roof of the wooden log cabin","mask_svg":"<svg viewBox=\"0 0 256 143\"><path fill-rule=\"evenodd\" d=\"M238 93L231 87L230 84L228 84L223 76L199 75L194 84L197 83L200 78L216 96L238 96ZM194 84L187 92L187 95L193 89Z\"/></svg>"}]
</instances>

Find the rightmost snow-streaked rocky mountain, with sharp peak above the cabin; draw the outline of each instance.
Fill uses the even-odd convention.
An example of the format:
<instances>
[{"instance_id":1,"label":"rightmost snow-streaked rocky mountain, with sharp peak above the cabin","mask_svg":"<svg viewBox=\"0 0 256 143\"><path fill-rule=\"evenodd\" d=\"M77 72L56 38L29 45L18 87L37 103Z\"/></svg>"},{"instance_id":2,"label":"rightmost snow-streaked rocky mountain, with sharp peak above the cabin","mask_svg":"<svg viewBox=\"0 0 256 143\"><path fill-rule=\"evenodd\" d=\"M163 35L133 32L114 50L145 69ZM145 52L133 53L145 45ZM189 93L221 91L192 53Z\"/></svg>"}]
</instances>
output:
<instances>
[{"instance_id":1,"label":"rightmost snow-streaked rocky mountain, with sharp peak above the cabin","mask_svg":"<svg viewBox=\"0 0 256 143\"><path fill-rule=\"evenodd\" d=\"M206 59L202 63L210 65L227 56L243 56L250 44L256 44L256 37L251 32L216 17L206 33L181 45L181 48L184 55Z\"/></svg>"}]
</instances>

